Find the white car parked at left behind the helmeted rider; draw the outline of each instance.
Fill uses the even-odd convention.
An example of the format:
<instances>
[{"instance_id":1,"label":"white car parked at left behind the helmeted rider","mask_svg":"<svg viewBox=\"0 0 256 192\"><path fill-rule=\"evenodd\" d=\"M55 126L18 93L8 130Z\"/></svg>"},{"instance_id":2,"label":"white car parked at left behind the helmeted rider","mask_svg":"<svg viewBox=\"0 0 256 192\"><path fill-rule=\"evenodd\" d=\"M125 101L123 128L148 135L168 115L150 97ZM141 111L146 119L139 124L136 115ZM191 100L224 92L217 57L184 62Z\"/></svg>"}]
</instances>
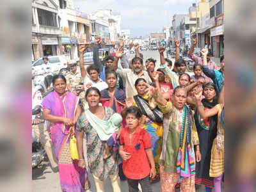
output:
<instances>
[{"instance_id":1,"label":"white car parked at left behind the helmeted rider","mask_svg":"<svg viewBox=\"0 0 256 192\"><path fill-rule=\"evenodd\" d=\"M59 74L61 68L67 68L67 59L65 56L48 56L48 60L51 66L51 73L54 75ZM32 76L38 76L45 73L42 64L44 64L43 58L39 58L32 63Z\"/></svg>"}]
</instances>

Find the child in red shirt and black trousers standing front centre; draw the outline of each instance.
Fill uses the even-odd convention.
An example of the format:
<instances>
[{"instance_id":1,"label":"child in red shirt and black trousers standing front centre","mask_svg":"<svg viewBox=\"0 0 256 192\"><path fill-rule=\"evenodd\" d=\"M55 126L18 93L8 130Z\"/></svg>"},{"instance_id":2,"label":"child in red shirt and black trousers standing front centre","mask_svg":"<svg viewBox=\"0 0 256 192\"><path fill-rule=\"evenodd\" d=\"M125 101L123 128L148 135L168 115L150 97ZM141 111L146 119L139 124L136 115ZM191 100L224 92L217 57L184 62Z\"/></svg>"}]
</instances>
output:
<instances>
[{"instance_id":1,"label":"child in red shirt and black trousers standing front centre","mask_svg":"<svg viewBox=\"0 0 256 192\"><path fill-rule=\"evenodd\" d=\"M140 109L128 108L125 113L127 127L120 133L119 153L124 159L123 170L129 192L139 191L139 183L143 192L152 192L149 177L156 176L150 136L139 125L141 116Z\"/></svg>"}]
</instances>

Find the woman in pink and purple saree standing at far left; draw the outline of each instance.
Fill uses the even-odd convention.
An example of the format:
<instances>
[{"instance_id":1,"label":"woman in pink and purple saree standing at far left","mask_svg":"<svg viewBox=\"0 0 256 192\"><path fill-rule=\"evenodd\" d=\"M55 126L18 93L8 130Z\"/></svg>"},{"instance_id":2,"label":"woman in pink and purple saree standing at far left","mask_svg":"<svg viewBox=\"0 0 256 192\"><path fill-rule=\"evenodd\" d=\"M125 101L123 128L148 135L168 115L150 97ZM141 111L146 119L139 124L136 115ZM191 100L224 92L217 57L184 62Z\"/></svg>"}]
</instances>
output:
<instances>
[{"instance_id":1,"label":"woman in pink and purple saree standing at far left","mask_svg":"<svg viewBox=\"0 0 256 192\"><path fill-rule=\"evenodd\" d=\"M51 138L60 172L61 190L65 192L83 192L89 188L85 168L79 168L78 160L70 156L70 135L76 135L77 118L81 113L79 97L66 92L67 81L64 76L52 78L54 92L43 100L45 120L51 122Z\"/></svg>"}]
</instances>

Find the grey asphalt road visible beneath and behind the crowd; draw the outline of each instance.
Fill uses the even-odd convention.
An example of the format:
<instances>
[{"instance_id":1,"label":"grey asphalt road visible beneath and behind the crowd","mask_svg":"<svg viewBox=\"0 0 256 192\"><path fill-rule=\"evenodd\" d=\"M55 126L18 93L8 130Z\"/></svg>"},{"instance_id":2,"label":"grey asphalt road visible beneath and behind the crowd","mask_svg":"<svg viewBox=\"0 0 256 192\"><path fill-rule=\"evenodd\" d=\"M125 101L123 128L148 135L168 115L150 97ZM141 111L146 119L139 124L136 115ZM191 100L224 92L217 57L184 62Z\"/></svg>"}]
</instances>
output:
<instances>
[{"instance_id":1,"label":"grey asphalt road visible beneath and behind the crowd","mask_svg":"<svg viewBox=\"0 0 256 192\"><path fill-rule=\"evenodd\" d=\"M147 58L154 58L155 60L157 60L156 68L159 67L160 58L159 58L158 51L143 51L142 53L143 53L144 61L147 60ZM171 60L174 64L174 58L172 58ZM220 63L218 63L218 65L220 65ZM88 173L88 176L89 176L90 183L92 185L90 190L92 192L96 192L95 183L92 178L92 175ZM111 186L111 182L109 179L106 180L104 186L105 186L106 192L113 191L113 188ZM160 182L151 184L151 186L154 192L160 192ZM122 191L124 192L128 191L127 181L121 182L121 188L122 188ZM36 192L61 192L59 174L52 172L48 162L43 162L40 168L35 168L32 170L32 189L33 191L36 191ZM200 189L197 189L196 191L205 191L204 186Z\"/></svg>"}]
</instances>

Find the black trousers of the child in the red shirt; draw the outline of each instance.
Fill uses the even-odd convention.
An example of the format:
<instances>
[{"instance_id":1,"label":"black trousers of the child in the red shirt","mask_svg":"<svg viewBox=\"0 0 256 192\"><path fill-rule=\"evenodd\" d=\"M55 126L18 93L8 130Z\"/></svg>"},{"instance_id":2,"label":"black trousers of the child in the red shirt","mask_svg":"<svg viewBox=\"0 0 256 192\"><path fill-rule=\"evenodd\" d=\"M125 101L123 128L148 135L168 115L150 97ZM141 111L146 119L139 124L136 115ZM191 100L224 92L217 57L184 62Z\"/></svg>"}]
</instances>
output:
<instances>
[{"instance_id":1,"label":"black trousers of the child in the red shirt","mask_svg":"<svg viewBox=\"0 0 256 192\"><path fill-rule=\"evenodd\" d=\"M152 192L152 188L149 182L149 175L144 179L129 179L127 178L129 192L138 192L138 184L140 183L142 192Z\"/></svg>"}]
</instances>

